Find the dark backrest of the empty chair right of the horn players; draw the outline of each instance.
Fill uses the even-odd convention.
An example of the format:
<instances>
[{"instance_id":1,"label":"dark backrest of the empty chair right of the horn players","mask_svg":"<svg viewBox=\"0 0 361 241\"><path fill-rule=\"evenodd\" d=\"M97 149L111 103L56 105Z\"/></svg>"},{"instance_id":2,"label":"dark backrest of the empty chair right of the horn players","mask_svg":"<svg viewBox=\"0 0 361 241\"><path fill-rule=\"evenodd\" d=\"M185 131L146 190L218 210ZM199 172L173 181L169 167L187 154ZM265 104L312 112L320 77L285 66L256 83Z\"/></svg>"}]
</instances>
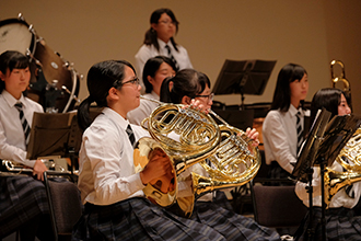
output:
<instances>
[{"instance_id":1,"label":"dark backrest of the empty chair right of the horn players","mask_svg":"<svg viewBox=\"0 0 361 241\"><path fill-rule=\"evenodd\" d=\"M255 220L270 228L300 226L307 213L291 186L252 184Z\"/></svg>"}]
</instances>

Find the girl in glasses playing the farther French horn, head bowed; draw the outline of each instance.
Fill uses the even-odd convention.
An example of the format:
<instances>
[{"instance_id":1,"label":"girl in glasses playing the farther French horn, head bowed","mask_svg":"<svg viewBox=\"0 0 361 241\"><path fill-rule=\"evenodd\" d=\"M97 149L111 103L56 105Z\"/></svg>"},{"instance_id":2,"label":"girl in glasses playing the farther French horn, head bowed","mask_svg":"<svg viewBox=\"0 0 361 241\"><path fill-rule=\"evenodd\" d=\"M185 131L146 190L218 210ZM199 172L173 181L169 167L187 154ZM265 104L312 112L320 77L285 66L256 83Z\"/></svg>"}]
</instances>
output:
<instances>
[{"instance_id":1,"label":"girl in glasses playing the farther French horn, head bowed","mask_svg":"<svg viewBox=\"0 0 361 241\"><path fill-rule=\"evenodd\" d=\"M194 69L179 70L175 77L165 79L161 89L161 101L173 104L198 103L199 107L210 110L212 99L213 93L211 93L208 77ZM246 134L249 138L256 140L255 145L258 145L256 129L247 128ZM190 172L208 176L200 164L194 164L182 173L180 177L186 179ZM190 185L188 188L182 188L179 185L179 197L188 195ZM218 192L218 195L222 195L221 198L224 203L229 202L223 192ZM216 229L226 240L280 240L276 231L261 227L252 218L237 215L214 203L212 193L203 195L196 202L190 219Z\"/></svg>"}]
</instances>

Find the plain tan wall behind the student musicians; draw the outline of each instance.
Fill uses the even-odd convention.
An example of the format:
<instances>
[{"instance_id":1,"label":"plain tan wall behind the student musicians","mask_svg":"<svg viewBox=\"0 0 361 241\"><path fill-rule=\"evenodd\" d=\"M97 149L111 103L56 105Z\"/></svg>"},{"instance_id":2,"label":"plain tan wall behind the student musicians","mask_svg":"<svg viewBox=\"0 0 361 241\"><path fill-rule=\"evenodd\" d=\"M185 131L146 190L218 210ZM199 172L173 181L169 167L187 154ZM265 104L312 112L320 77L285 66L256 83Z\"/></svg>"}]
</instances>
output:
<instances>
[{"instance_id":1,"label":"plain tan wall behind the student musicians","mask_svg":"<svg viewBox=\"0 0 361 241\"><path fill-rule=\"evenodd\" d=\"M0 20L23 13L47 45L84 76L83 100L91 65L105 59L135 64L150 14L163 7L171 8L180 22L176 42L212 84L225 59L277 60L264 94L246 95L245 103L271 102L277 74L288 62L307 70L306 100L311 101L318 89L331 85L329 64L339 59L351 83L353 111L361 114L359 0L12 0L1 4ZM216 100L241 103L237 94Z\"/></svg>"}]
</instances>

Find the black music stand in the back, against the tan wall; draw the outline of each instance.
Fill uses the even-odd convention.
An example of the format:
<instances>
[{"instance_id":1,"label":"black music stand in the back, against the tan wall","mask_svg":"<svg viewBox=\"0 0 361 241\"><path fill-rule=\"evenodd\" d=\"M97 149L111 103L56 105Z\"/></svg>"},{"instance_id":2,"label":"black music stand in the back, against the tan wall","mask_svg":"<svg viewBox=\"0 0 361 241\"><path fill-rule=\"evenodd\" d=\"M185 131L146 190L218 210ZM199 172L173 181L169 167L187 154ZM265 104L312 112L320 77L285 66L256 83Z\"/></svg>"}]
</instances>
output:
<instances>
[{"instance_id":1,"label":"black music stand in the back, against the tan wall","mask_svg":"<svg viewBox=\"0 0 361 241\"><path fill-rule=\"evenodd\" d=\"M244 110L244 94L261 95L275 65L276 60L225 59L212 92L216 95L241 93L241 106Z\"/></svg>"}]
</instances>

